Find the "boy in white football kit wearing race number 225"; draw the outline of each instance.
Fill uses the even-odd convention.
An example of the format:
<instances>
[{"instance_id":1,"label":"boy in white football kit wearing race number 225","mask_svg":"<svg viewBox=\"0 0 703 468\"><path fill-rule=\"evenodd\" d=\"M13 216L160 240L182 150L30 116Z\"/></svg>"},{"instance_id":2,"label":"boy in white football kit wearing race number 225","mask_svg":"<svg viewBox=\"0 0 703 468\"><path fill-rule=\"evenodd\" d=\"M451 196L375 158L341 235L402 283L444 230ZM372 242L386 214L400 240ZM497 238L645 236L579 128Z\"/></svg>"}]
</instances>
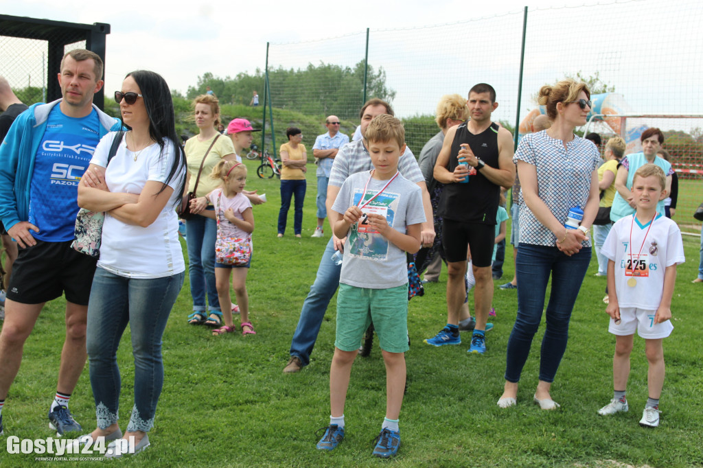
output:
<instances>
[{"instance_id":1,"label":"boy in white football kit wearing race number 225","mask_svg":"<svg viewBox=\"0 0 703 468\"><path fill-rule=\"evenodd\" d=\"M645 164L633 178L636 212L614 224L602 247L608 258L608 331L615 335L613 356L614 396L599 415L628 410L625 390L630 373L630 352L635 330L645 339L649 398L640 426L659 425L659 396L664 384L662 341L673 330L671 297L676 265L684 261L681 230L657 213L657 202L666 197L664 171Z\"/></svg>"}]
</instances>

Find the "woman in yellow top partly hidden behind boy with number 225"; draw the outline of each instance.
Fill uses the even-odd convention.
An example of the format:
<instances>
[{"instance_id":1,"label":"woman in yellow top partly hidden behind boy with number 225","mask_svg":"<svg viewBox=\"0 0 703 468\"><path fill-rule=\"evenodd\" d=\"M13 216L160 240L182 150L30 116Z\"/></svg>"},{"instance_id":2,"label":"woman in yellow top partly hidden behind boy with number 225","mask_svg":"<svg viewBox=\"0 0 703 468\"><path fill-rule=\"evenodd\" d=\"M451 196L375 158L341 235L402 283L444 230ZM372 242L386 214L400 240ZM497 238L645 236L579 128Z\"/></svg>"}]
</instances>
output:
<instances>
[{"instance_id":1,"label":"woman in yellow top partly hidden behind boy with number 225","mask_svg":"<svg viewBox=\"0 0 703 468\"><path fill-rule=\"evenodd\" d=\"M620 164L620 159L625 153L625 141L619 136L614 136L605 143L605 163L598 168L598 188L601 190L599 208L612 207L613 198L615 197L615 176L617 175L617 167ZM595 246L595 256L598 257L598 273L596 276L605 276L607 274L608 259L607 256L600 253L605 238L610 233L613 223L609 222L600 226L593 225L593 245Z\"/></svg>"}]
</instances>

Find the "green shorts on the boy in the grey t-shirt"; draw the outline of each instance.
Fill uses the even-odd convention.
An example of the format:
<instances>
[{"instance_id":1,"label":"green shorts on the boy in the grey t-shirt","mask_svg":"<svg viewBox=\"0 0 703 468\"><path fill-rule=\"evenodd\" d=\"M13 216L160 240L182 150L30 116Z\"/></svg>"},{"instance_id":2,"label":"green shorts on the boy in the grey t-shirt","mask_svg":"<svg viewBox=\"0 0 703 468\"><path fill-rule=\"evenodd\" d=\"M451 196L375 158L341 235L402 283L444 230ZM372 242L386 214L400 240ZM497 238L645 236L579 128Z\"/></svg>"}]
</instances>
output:
<instances>
[{"instance_id":1,"label":"green shorts on the boy in the grey t-shirt","mask_svg":"<svg viewBox=\"0 0 703 468\"><path fill-rule=\"evenodd\" d=\"M404 353L410 349L407 284L386 290L340 284L335 346L342 351L359 349L372 321L383 351Z\"/></svg>"}]
</instances>

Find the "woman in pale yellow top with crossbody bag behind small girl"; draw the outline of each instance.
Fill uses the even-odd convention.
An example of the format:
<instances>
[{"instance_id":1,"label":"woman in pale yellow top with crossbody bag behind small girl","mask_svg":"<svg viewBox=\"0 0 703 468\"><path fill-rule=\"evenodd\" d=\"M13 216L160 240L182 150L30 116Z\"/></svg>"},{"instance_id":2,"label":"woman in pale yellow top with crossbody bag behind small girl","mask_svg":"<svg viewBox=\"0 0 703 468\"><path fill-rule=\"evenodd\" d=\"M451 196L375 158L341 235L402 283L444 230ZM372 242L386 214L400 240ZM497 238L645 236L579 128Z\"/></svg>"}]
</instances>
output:
<instances>
[{"instance_id":1,"label":"woman in pale yellow top with crossbody bag behind small girl","mask_svg":"<svg viewBox=\"0 0 703 468\"><path fill-rule=\"evenodd\" d=\"M195 193L195 197L205 197L219 185L219 181L209 178L212 168L220 160L235 160L236 152L232 141L217 132L220 108L219 100L215 96L201 94L193 99L193 111L195 125L198 126L199 133L193 138L189 138L185 145L188 157L188 188L186 192ZM202 169L200 169L201 166ZM197 191L195 190L196 182ZM191 297L193 298L193 313L188 316L188 323L191 325L205 323L205 325L219 327L222 313L215 286L217 223L213 218L199 214L204 209L206 208L191 204L191 213L195 216L186 221L188 279L191 282ZM207 209L214 208L210 206ZM205 303L206 293L207 305Z\"/></svg>"}]
</instances>

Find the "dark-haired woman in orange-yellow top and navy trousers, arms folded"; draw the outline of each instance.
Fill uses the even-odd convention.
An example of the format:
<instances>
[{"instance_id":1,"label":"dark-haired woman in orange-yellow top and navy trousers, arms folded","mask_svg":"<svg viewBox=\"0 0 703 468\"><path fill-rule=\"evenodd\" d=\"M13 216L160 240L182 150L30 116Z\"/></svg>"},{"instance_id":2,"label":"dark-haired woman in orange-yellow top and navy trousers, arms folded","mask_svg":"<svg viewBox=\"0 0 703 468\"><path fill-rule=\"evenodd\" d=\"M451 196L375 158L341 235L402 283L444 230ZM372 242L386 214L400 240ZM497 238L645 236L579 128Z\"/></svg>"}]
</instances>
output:
<instances>
[{"instance_id":1,"label":"dark-haired woman in orange-yellow top and navy trousers, arms folded","mask_svg":"<svg viewBox=\"0 0 703 468\"><path fill-rule=\"evenodd\" d=\"M305 164L307 164L307 150L303 141L303 134L295 126L288 127L285 131L288 143L280 145L280 212L278 212L278 237L285 233L285 221L288 218L290 198L295 195L295 213L293 214L293 231L295 237L301 237L303 226L303 201L305 199Z\"/></svg>"}]
</instances>

